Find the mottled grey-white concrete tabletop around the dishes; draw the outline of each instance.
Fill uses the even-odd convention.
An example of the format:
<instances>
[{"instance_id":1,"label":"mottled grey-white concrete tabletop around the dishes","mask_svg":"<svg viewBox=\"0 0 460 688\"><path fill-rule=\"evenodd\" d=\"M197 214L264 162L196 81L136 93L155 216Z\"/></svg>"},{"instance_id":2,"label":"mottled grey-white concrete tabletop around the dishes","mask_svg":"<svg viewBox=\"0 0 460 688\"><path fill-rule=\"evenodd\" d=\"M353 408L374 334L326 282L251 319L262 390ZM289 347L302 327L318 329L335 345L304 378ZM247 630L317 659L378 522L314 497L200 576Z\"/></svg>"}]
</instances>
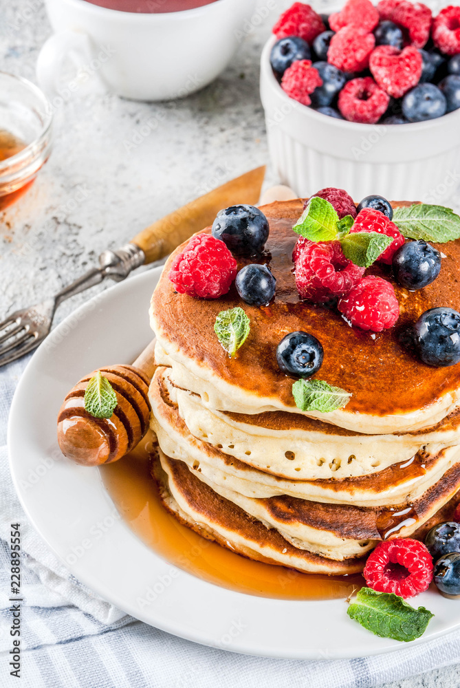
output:
<instances>
[{"instance_id":1,"label":"mottled grey-white concrete tabletop around the dishes","mask_svg":"<svg viewBox=\"0 0 460 688\"><path fill-rule=\"evenodd\" d=\"M94 265L105 248L124 244L154 219L267 162L259 55L288 4L261 0L269 10L246 25L230 67L193 96L151 104L76 92L55 108L50 161L28 195L0 214L0 316L50 297ZM0 68L34 81L36 56L50 35L43 4L3 0L0 20ZM144 135L152 117L158 126ZM266 186L276 182L268 169ZM63 304L56 323L111 284ZM459 668L379 688L454 688Z\"/></svg>"}]
</instances>

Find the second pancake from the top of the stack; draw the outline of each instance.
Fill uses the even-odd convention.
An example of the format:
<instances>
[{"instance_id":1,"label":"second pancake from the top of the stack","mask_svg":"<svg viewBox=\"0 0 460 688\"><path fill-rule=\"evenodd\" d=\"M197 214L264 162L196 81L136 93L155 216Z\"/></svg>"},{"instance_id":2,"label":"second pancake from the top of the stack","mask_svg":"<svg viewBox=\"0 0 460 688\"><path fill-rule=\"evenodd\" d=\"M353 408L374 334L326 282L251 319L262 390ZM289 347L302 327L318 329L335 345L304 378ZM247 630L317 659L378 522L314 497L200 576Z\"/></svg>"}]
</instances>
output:
<instances>
[{"instance_id":1,"label":"second pancake from the top of the stack","mask_svg":"<svg viewBox=\"0 0 460 688\"><path fill-rule=\"evenodd\" d=\"M168 394L173 394L179 415L193 436L279 477L317 480L366 475L406 462L422 448L432 454L460 442L459 411L432 431L364 435L298 413L210 411L199 396L172 385L167 369L162 370Z\"/></svg>"}]
</instances>

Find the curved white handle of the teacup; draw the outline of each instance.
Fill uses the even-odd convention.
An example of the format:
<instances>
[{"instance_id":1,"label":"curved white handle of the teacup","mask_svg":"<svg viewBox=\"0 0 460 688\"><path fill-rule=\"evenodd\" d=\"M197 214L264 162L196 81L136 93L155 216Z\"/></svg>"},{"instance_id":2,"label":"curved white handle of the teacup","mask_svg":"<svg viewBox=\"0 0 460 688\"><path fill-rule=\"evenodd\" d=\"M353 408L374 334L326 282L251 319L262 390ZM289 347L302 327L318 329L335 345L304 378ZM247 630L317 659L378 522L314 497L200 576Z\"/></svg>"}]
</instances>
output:
<instances>
[{"instance_id":1,"label":"curved white handle of the teacup","mask_svg":"<svg viewBox=\"0 0 460 688\"><path fill-rule=\"evenodd\" d=\"M74 64L76 74L74 80L63 85L61 74L66 59ZM89 68L93 59L94 50L87 34L77 31L54 34L43 44L36 62L36 77L41 89L50 97L62 95L63 89L78 89L79 83L88 80L88 72L94 75L94 70ZM102 82L96 78L100 89Z\"/></svg>"}]
</instances>

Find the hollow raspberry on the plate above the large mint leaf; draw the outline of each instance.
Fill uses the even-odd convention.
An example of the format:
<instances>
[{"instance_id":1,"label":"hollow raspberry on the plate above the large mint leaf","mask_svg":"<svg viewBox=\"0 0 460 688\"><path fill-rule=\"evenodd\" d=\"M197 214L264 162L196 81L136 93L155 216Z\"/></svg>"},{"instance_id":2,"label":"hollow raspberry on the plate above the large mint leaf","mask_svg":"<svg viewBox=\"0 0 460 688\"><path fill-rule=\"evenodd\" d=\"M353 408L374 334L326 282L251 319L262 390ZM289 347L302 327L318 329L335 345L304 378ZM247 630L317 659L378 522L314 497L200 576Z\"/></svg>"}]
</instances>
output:
<instances>
[{"instance_id":1,"label":"hollow raspberry on the plate above the large mint leaf","mask_svg":"<svg viewBox=\"0 0 460 688\"><path fill-rule=\"evenodd\" d=\"M406 598L428 590L432 570L432 557L425 545L399 537L377 545L367 560L364 578L377 592L394 592Z\"/></svg>"}]
</instances>

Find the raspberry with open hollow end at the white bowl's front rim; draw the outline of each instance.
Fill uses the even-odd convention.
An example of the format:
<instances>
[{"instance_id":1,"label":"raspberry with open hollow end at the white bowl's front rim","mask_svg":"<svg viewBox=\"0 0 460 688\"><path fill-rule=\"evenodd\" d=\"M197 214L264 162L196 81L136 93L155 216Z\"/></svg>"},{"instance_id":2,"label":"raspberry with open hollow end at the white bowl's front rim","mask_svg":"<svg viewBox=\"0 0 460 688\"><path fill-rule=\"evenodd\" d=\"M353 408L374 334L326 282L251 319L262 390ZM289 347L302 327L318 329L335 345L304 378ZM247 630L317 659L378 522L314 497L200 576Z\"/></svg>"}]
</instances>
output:
<instances>
[{"instance_id":1,"label":"raspberry with open hollow end at the white bowl's front rim","mask_svg":"<svg viewBox=\"0 0 460 688\"><path fill-rule=\"evenodd\" d=\"M338 109L349 122L375 124L388 107L390 96L371 76L351 79L338 94Z\"/></svg>"}]
</instances>

